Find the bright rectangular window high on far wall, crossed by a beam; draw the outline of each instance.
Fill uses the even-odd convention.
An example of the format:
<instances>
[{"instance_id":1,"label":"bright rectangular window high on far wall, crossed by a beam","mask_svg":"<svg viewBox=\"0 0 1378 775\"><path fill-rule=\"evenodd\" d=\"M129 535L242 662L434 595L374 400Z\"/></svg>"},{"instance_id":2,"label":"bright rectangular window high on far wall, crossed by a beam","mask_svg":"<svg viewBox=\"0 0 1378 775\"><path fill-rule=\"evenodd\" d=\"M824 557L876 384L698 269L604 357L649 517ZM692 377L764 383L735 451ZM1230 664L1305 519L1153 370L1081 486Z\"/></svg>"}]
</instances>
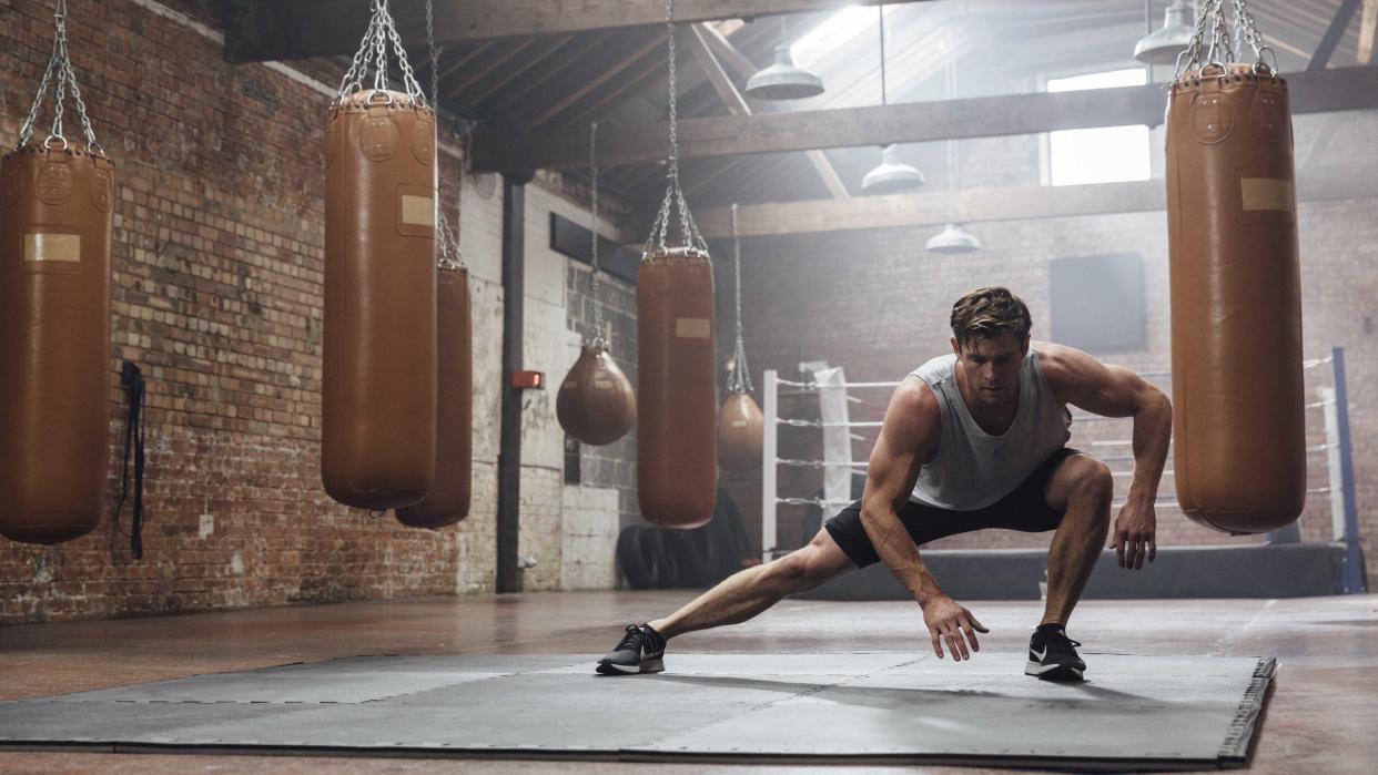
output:
<instances>
[{"instance_id":1,"label":"bright rectangular window high on far wall, crossed by a beam","mask_svg":"<svg viewBox=\"0 0 1378 775\"><path fill-rule=\"evenodd\" d=\"M1047 91L1133 87L1148 83L1142 67L1049 78ZM1047 135L1047 171L1053 186L1148 180L1148 127L1065 129Z\"/></svg>"}]
</instances>

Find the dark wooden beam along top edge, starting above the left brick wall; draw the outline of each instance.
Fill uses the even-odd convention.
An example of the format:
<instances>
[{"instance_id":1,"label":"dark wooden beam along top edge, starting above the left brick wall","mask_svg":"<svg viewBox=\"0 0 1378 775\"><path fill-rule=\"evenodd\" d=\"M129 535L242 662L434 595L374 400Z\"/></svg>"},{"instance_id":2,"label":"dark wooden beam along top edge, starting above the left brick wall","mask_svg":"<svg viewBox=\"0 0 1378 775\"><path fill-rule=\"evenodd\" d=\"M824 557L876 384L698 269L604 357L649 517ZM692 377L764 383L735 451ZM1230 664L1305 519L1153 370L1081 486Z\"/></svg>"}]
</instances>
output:
<instances>
[{"instance_id":1,"label":"dark wooden beam along top edge, starting above the left brick wall","mask_svg":"<svg viewBox=\"0 0 1378 775\"><path fill-rule=\"evenodd\" d=\"M919 3L925 0L885 0ZM881 0L860 0L875 6ZM677 22L761 18L856 6L858 0L677 0ZM408 47L426 43L424 0L391 3ZM368 28L369 0L245 0L225 36L229 62L349 55ZM666 21L664 0L435 0L435 43L615 30Z\"/></svg>"}]
</instances>

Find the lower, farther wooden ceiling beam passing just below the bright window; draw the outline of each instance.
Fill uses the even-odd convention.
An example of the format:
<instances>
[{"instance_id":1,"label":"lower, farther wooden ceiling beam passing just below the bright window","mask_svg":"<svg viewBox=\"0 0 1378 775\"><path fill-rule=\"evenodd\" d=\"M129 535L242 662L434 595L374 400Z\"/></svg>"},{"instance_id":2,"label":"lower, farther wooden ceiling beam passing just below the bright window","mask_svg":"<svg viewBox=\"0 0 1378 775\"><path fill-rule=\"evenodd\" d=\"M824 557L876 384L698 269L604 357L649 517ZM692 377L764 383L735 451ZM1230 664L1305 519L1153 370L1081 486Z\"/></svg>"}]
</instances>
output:
<instances>
[{"instance_id":1,"label":"lower, farther wooden ceiling beam passing just below the bright window","mask_svg":"<svg viewBox=\"0 0 1378 775\"><path fill-rule=\"evenodd\" d=\"M1312 168L1297 175L1299 201L1333 201L1378 197L1378 168ZM1167 194L1162 180L1093 183L1086 186L1034 186L1016 189L967 189L854 200L810 200L740 205L741 237L781 237L912 229L944 223L987 223L1078 217L1120 212L1159 212ZM732 209L699 211L696 219L708 240L732 237Z\"/></svg>"}]
</instances>

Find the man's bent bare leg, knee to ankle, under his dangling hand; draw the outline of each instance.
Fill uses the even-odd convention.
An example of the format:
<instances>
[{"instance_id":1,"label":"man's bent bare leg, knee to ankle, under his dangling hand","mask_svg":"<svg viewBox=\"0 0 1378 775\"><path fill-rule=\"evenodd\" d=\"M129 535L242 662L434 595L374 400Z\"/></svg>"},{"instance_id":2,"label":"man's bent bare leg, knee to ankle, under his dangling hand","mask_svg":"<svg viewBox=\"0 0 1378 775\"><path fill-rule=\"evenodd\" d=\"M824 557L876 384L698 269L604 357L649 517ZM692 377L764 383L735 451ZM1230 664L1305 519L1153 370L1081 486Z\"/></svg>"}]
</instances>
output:
<instances>
[{"instance_id":1,"label":"man's bent bare leg, knee to ankle, under his dangling hand","mask_svg":"<svg viewBox=\"0 0 1378 775\"><path fill-rule=\"evenodd\" d=\"M1047 604L1040 625L1065 626L1082 599L1105 545L1113 490L1109 468L1084 454L1068 457L1053 472L1045 497L1064 515L1047 551Z\"/></svg>"}]
</instances>

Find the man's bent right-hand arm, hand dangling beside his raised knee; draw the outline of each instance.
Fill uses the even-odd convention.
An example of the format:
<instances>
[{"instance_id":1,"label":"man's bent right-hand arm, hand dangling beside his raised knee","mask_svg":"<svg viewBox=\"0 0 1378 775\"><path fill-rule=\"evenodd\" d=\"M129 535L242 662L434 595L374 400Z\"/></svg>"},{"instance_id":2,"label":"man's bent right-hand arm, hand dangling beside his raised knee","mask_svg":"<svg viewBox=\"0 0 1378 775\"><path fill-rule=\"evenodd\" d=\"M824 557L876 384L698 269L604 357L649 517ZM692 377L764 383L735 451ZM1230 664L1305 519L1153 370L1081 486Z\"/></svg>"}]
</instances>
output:
<instances>
[{"instance_id":1,"label":"man's bent right-hand arm, hand dangling beside his raised knee","mask_svg":"<svg viewBox=\"0 0 1378 775\"><path fill-rule=\"evenodd\" d=\"M1153 501L1173 436L1173 405L1163 391L1123 366L1107 366L1080 350L1039 346L1040 365L1053 392L1104 417L1134 418L1134 479L1115 520L1111 548L1119 567L1138 570L1158 556Z\"/></svg>"}]
</instances>

